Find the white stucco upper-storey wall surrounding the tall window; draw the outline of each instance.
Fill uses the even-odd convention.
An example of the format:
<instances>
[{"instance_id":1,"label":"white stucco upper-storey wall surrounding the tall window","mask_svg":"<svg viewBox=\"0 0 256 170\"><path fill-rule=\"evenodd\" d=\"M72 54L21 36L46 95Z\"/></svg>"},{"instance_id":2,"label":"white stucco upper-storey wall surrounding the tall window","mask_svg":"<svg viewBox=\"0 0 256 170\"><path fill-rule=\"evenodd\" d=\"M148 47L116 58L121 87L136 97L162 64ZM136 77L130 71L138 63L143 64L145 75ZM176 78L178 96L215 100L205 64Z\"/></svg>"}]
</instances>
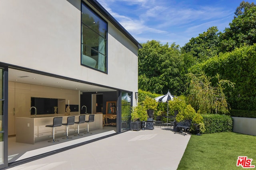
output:
<instances>
[{"instance_id":1,"label":"white stucco upper-storey wall surrounding the tall window","mask_svg":"<svg viewBox=\"0 0 256 170\"><path fill-rule=\"evenodd\" d=\"M80 0L70 2L2 0L0 62L137 92L138 47L106 18L108 74L80 65Z\"/></svg>"}]
</instances>

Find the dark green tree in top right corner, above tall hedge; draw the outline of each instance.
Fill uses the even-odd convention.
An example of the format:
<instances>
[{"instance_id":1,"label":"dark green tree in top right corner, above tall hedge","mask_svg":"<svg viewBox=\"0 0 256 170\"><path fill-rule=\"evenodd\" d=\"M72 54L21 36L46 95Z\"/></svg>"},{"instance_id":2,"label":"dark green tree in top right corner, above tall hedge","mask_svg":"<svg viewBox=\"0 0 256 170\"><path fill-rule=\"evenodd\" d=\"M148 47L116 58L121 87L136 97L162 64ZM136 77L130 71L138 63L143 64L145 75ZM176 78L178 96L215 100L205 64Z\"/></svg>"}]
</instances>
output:
<instances>
[{"instance_id":1,"label":"dark green tree in top right corner, above tall hedge","mask_svg":"<svg viewBox=\"0 0 256 170\"><path fill-rule=\"evenodd\" d=\"M229 25L220 34L220 52L230 52L236 47L256 43L256 6L245 8L244 13L239 14Z\"/></svg>"}]
</instances>

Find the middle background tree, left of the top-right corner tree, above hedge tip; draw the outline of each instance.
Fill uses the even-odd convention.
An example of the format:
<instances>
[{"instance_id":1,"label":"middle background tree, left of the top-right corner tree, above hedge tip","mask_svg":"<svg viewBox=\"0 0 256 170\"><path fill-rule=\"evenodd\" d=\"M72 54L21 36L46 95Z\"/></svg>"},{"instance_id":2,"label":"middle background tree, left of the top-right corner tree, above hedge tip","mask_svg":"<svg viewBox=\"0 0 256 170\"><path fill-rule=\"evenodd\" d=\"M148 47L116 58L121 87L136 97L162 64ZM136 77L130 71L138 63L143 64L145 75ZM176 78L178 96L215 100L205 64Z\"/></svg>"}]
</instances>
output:
<instances>
[{"instance_id":1,"label":"middle background tree, left of the top-right corner tree, above hedge tip","mask_svg":"<svg viewBox=\"0 0 256 170\"><path fill-rule=\"evenodd\" d=\"M217 27L210 27L206 32L192 37L188 43L182 47L182 51L190 53L193 63L201 63L214 57L218 52L219 34ZM190 59L191 60L191 59Z\"/></svg>"}]
</instances>

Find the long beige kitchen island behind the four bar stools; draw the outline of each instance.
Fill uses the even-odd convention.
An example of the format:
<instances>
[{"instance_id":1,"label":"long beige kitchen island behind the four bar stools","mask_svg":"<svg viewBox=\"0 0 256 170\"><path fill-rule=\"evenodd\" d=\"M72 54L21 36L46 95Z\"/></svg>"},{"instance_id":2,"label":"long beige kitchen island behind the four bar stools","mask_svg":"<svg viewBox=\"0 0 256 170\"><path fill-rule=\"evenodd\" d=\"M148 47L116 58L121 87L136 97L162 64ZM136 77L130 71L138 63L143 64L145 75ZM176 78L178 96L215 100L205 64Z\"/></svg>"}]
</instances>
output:
<instances>
[{"instance_id":1,"label":"long beige kitchen island behind the four bar stools","mask_svg":"<svg viewBox=\"0 0 256 170\"><path fill-rule=\"evenodd\" d=\"M90 114L86 115L85 119L88 120ZM67 118L73 115L49 115L47 117L16 117L15 127L16 127L16 142L34 144L39 141L51 140L52 128L45 127L45 125L52 125L54 117L63 117L62 123L67 122ZM78 121L79 115L74 115L75 121ZM80 124L80 132L86 132L87 123ZM89 130L102 129L102 114L95 114L94 122L89 123ZM75 131L76 130L76 131ZM62 125L60 127L55 127L55 138L64 137L66 133L66 126ZM68 135L74 135L77 133L77 124L68 126Z\"/></svg>"}]
</instances>

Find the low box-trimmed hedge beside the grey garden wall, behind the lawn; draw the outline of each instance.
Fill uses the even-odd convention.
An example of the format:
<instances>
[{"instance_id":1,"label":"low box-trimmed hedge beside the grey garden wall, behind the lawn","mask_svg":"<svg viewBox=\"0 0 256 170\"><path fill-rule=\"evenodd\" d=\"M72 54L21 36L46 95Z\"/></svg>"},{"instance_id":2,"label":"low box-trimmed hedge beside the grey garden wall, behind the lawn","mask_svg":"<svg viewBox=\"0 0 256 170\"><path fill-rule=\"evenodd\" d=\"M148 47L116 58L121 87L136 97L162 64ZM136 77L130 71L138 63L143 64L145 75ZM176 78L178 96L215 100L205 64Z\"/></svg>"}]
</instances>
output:
<instances>
[{"instance_id":1,"label":"low box-trimmed hedge beside the grey garden wall, behind the lawn","mask_svg":"<svg viewBox=\"0 0 256 170\"><path fill-rule=\"evenodd\" d=\"M233 119L228 115L205 114L204 125L206 131L204 133L216 132L232 132Z\"/></svg>"}]
</instances>

